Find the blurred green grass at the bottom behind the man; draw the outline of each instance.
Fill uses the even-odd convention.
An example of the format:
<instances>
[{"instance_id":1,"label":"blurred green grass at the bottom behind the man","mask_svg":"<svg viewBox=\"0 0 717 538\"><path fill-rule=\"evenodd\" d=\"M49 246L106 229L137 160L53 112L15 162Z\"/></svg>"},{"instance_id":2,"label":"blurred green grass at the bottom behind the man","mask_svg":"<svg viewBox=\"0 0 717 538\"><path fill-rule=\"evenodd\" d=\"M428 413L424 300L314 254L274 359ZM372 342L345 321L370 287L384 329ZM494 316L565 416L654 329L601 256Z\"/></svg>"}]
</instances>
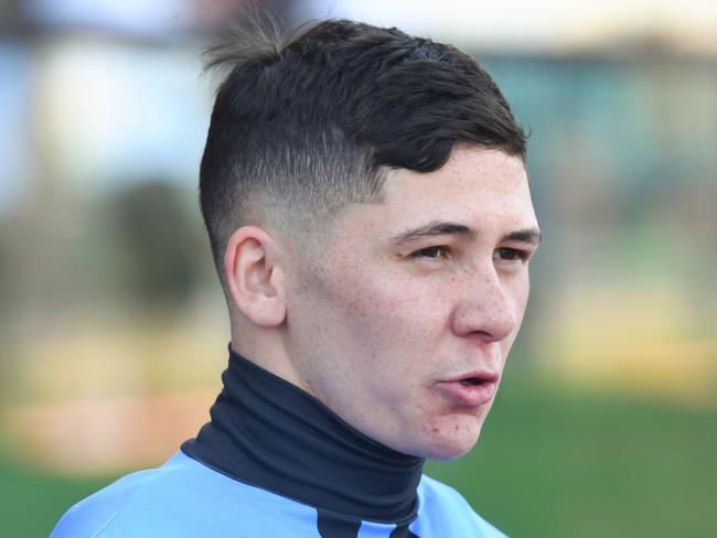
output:
<instances>
[{"instance_id":1,"label":"blurred green grass at the bottom behind the man","mask_svg":"<svg viewBox=\"0 0 717 538\"><path fill-rule=\"evenodd\" d=\"M715 409L567 394L529 374L506 379L478 446L427 466L488 520L515 537L717 536ZM1 534L47 536L113 480L52 475L0 452Z\"/></svg>"}]
</instances>

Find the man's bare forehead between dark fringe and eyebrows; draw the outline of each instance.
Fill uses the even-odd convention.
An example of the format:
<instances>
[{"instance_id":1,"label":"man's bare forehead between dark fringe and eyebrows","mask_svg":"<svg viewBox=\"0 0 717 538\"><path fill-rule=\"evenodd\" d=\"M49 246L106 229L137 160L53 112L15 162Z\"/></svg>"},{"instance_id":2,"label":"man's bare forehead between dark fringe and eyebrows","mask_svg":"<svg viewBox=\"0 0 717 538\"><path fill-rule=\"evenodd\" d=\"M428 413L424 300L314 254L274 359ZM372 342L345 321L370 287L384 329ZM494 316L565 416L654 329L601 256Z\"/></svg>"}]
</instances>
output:
<instances>
[{"instance_id":1,"label":"man's bare forehead between dark fringe and eyebrows","mask_svg":"<svg viewBox=\"0 0 717 538\"><path fill-rule=\"evenodd\" d=\"M387 174L384 200L347 208L340 228L393 234L427 222L506 233L537 227L523 161L501 150L458 148L439 170Z\"/></svg>"}]
</instances>

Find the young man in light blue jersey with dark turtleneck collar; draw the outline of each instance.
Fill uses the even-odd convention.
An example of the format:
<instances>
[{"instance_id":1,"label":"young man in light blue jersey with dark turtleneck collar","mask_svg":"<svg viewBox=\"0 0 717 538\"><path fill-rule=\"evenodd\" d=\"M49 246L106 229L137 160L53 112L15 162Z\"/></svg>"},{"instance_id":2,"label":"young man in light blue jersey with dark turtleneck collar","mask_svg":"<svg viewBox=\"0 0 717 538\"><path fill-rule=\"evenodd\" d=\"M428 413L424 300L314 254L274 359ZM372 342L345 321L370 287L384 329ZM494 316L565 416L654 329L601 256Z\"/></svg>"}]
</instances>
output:
<instances>
[{"instance_id":1,"label":"young man in light blue jersey with dark turtleneck collar","mask_svg":"<svg viewBox=\"0 0 717 538\"><path fill-rule=\"evenodd\" d=\"M458 50L349 21L215 54L224 389L196 439L53 536L503 536L421 470L478 440L528 298L507 103Z\"/></svg>"}]
</instances>

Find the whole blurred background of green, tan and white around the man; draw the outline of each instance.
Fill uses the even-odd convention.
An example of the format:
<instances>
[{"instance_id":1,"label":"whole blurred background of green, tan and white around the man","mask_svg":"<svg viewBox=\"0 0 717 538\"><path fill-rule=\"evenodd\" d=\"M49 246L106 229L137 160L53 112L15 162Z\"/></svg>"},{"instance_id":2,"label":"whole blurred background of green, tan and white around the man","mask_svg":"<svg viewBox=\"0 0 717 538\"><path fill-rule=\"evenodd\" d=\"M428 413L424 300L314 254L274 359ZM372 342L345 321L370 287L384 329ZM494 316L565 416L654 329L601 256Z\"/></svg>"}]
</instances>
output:
<instances>
[{"instance_id":1,"label":"whole blurred background of green, tan and white around the man","mask_svg":"<svg viewBox=\"0 0 717 538\"><path fill-rule=\"evenodd\" d=\"M2 536L207 418L201 51L244 3L0 4ZM454 42L532 131L526 322L478 446L429 473L510 536L717 536L717 6L265 3Z\"/></svg>"}]
</instances>

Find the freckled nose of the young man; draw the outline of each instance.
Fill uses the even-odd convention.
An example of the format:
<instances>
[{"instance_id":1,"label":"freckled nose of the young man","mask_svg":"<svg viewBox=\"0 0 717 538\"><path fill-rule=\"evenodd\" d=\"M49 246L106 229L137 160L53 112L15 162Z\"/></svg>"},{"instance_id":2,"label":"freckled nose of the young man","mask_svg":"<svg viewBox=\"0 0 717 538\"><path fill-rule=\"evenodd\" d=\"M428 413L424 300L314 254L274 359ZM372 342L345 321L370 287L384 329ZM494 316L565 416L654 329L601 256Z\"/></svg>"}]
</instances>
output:
<instances>
[{"instance_id":1,"label":"freckled nose of the young man","mask_svg":"<svg viewBox=\"0 0 717 538\"><path fill-rule=\"evenodd\" d=\"M485 342L510 336L520 323L518 305L495 269L486 268L468 280L467 292L453 311L453 332L460 336L475 335Z\"/></svg>"}]
</instances>

